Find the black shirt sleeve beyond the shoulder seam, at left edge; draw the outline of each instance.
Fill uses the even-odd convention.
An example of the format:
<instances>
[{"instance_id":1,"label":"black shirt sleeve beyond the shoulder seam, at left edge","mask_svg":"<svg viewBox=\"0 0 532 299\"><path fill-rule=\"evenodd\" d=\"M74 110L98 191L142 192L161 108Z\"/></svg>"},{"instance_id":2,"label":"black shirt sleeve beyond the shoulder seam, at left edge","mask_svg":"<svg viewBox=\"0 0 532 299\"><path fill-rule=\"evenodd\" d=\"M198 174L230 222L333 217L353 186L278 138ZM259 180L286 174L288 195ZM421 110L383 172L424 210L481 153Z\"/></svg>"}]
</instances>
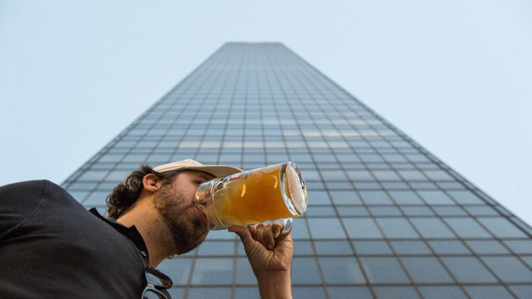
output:
<instances>
[{"instance_id":1,"label":"black shirt sleeve beyond the shoulder seam, at left edge","mask_svg":"<svg viewBox=\"0 0 532 299\"><path fill-rule=\"evenodd\" d=\"M0 187L0 243L33 215L50 181L24 181Z\"/></svg>"}]
</instances>

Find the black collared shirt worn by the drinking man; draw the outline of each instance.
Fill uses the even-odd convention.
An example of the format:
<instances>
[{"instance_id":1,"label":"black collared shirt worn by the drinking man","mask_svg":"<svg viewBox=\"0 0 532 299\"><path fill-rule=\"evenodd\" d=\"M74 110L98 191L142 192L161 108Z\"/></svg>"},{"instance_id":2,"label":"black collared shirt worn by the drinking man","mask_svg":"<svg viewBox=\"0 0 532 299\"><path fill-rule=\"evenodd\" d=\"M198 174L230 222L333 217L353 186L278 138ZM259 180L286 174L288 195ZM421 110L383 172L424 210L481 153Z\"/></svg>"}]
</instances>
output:
<instances>
[{"instance_id":1,"label":"black collared shirt worn by the drinking man","mask_svg":"<svg viewBox=\"0 0 532 299\"><path fill-rule=\"evenodd\" d=\"M148 250L133 227L50 181L0 187L0 298L140 298Z\"/></svg>"}]
</instances>

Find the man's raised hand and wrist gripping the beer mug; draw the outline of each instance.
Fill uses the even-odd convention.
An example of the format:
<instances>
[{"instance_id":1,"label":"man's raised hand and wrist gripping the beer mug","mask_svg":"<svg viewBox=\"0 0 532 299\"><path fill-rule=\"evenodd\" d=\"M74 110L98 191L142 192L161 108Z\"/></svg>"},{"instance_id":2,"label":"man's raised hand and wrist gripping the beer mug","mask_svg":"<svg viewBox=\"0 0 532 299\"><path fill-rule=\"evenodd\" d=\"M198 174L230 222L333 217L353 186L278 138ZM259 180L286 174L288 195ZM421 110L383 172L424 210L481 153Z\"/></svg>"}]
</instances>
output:
<instances>
[{"instance_id":1,"label":"man's raised hand and wrist gripping the beer mug","mask_svg":"<svg viewBox=\"0 0 532 299\"><path fill-rule=\"evenodd\" d=\"M283 222L245 227L231 225L244 244L245 254L257 277L261 298L292 298L290 265L293 242Z\"/></svg>"}]
</instances>

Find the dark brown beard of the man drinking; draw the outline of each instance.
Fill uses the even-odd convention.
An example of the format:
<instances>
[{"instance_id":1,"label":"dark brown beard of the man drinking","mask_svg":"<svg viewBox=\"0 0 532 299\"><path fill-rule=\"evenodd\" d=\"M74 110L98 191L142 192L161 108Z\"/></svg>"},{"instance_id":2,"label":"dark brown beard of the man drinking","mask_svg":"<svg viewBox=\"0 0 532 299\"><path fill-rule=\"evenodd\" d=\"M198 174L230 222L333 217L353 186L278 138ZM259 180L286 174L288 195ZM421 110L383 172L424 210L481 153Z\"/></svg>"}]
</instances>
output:
<instances>
[{"instance_id":1,"label":"dark brown beard of the man drinking","mask_svg":"<svg viewBox=\"0 0 532 299\"><path fill-rule=\"evenodd\" d=\"M170 184L162 186L153 195L153 205L170 230L175 254L184 254L198 247L205 239L204 232L208 231L199 218L190 219L190 210L196 208L196 203L186 203L187 198Z\"/></svg>"}]
</instances>

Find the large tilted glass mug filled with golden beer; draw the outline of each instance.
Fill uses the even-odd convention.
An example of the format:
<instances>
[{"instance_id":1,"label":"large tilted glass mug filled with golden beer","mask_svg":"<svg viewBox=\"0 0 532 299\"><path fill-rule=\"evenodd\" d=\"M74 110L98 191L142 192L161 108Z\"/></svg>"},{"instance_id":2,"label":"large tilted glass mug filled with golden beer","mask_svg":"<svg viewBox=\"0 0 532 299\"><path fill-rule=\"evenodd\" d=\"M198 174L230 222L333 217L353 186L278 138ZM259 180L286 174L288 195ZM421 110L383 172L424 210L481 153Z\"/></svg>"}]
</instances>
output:
<instances>
[{"instance_id":1,"label":"large tilted glass mug filled with golden beer","mask_svg":"<svg viewBox=\"0 0 532 299\"><path fill-rule=\"evenodd\" d=\"M211 230L274 220L287 230L306 211L306 186L297 165L284 162L203 183L196 201L205 205Z\"/></svg>"}]
</instances>

